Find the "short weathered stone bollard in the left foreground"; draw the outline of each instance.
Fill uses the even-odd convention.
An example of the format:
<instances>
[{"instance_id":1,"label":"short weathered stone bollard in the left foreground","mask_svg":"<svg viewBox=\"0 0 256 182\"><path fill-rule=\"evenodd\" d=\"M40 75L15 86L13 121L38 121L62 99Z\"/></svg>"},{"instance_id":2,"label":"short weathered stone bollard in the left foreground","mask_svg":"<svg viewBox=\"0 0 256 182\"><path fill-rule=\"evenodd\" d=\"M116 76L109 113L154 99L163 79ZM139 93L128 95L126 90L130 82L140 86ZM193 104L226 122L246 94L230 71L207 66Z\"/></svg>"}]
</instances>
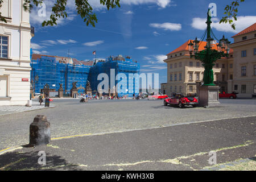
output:
<instances>
[{"instance_id":1,"label":"short weathered stone bollard in the left foreground","mask_svg":"<svg viewBox=\"0 0 256 182\"><path fill-rule=\"evenodd\" d=\"M48 144L51 141L50 123L45 115L36 115L30 124L30 146Z\"/></svg>"}]
</instances>

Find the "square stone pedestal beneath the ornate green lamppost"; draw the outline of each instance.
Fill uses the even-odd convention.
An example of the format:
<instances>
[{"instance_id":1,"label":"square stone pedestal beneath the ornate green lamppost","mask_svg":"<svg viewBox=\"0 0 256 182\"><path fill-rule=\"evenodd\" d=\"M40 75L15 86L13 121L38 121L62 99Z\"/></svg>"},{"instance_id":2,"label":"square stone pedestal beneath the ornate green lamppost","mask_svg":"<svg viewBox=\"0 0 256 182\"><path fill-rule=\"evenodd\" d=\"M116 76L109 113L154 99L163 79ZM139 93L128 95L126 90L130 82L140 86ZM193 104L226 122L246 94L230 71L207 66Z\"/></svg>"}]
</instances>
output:
<instances>
[{"instance_id":1,"label":"square stone pedestal beneath the ornate green lamppost","mask_svg":"<svg viewBox=\"0 0 256 182\"><path fill-rule=\"evenodd\" d=\"M199 106L214 107L219 106L218 92L219 86L199 86Z\"/></svg>"}]
</instances>

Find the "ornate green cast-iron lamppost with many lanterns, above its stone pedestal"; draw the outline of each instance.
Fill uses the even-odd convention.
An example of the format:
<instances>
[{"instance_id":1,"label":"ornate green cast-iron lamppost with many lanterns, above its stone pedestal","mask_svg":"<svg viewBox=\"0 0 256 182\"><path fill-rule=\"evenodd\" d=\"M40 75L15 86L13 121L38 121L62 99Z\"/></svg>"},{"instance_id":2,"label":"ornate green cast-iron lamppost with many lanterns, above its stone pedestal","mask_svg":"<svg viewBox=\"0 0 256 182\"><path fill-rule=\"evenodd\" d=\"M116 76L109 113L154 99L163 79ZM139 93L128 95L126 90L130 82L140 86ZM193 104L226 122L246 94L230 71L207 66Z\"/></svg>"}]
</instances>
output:
<instances>
[{"instance_id":1,"label":"ornate green cast-iron lamppost with many lanterns, above its stone pedestal","mask_svg":"<svg viewBox=\"0 0 256 182\"><path fill-rule=\"evenodd\" d=\"M208 9L207 13L207 30L204 32L203 38L200 39L200 41L203 41L205 38L205 35L207 35L207 45L204 47L205 49L203 51L199 52L199 46L200 46L200 41L197 40L191 40L188 44L189 48L189 53L190 57L195 57L196 60L200 60L203 62L203 67L204 67L204 85L209 85L209 86L215 86L213 84L213 70L212 67L215 65L214 62L217 61L218 59L221 59L221 57L228 57L229 54L229 45L230 42L228 39L225 38L223 35L223 38L218 40L213 32L212 28L210 28L210 24L212 21L210 20L210 10ZM216 41L211 37L215 38L216 40L219 41L217 44ZM213 44L214 42L217 44L218 51L216 49L213 49Z\"/></svg>"}]
</instances>

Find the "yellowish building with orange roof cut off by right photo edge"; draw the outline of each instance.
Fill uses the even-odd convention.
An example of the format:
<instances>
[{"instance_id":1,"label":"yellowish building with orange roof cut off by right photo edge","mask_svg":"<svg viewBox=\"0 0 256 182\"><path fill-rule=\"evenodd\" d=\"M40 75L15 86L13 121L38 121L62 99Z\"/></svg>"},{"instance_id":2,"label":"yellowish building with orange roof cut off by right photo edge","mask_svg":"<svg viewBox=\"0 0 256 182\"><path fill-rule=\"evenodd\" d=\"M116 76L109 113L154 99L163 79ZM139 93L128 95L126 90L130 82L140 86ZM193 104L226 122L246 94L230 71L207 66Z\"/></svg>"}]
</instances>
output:
<instances>
[{"instance_id":1,"label":"yellowish building with orange roof cut off by right photo edge","mask_svg":"<svg viewBox=\"0 0 256 182\"><path fill-rule=\"evenodd\" d=\"M241 98L256 97L256 23L232 36L234 79L232 91Z\"/></svg>"}]
</instances>

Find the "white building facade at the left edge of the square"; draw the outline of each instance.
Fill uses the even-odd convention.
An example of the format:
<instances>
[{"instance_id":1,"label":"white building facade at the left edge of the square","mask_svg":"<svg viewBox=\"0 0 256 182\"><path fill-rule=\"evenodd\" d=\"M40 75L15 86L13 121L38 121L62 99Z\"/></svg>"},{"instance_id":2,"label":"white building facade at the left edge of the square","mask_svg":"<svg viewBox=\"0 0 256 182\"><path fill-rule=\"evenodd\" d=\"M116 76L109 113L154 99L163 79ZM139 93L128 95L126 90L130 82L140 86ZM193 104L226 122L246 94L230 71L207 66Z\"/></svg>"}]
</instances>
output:
<instances>
[{"instance_id":1,"label":"white building facade at the left edge of the square","mask_svg":"<svg viewBox=\"0 0 256 182\"><path fill-rule=\"evenodd\" d=\"M26 105L30 100L30 14L24 0L3 0L7 23L0 24L0 105Z\"/></svg>"}]
</instances>

